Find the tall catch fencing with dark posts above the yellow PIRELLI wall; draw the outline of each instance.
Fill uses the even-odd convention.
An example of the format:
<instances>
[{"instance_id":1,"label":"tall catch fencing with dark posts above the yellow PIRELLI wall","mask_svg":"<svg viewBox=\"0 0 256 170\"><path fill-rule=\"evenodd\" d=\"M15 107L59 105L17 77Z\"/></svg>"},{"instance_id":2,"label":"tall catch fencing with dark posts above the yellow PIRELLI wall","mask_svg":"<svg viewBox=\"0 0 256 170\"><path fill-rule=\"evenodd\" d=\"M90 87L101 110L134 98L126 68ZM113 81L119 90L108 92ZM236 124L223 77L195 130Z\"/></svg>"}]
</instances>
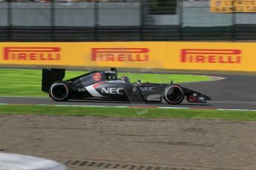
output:
<instances>
[{"instance_id":1,"label":"tall catch fencing with dark posts above the yellow PIRELLI wall","mask_svg":"<svg viewBox=\"0 0 256 170\"><path fill-rule=\"evenodd\" d=\"M256 40L256 13L211 8L202 0L1 0L0 41Z\"/></svg>"}]
</instances>

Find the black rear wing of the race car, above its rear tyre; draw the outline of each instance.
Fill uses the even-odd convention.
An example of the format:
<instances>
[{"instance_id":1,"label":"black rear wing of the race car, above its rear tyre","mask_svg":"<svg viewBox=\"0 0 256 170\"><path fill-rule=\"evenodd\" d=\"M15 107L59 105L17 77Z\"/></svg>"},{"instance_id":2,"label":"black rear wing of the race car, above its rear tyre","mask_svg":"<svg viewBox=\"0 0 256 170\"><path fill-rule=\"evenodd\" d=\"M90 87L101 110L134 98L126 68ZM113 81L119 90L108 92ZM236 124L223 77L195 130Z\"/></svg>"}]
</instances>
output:
<instances>
[{"instance_id":1,"label":"black rear wing of the race car, above its rear tyre","mask_svg":"<svg viewBox=\"0 0 256 170\"><path fill-rule=\"evenodd\" d=\"M42 91L49 92L50 86L55 81L65 78L65 69L42 69Z\"/></svg>"}]
</instances>

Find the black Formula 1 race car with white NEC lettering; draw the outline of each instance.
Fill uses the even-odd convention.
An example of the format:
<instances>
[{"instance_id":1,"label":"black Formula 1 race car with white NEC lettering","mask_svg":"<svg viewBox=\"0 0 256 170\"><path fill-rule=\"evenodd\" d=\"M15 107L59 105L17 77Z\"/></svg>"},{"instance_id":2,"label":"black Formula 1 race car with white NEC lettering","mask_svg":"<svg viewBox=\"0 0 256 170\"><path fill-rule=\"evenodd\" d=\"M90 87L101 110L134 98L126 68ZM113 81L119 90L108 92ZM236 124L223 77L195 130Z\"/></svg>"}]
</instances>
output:
<instances>
[{"instance_id":1,"label":"black Formula 1 race car with white NEC lettering","mask_svg":"<svg viewBox=\"0 0 256 170\"><path fill-rule=\"evenodd\" d=\"M186 97L188 102L206 103L211 98L201 92L178 84L130 83L128 77L117 78L116 68L110 71L93 71L68 81L62 81L65 69L43 69L42 91L54 101L69 99L107 100L128 102L154 102L163 99L169 104L179 104Z\"/></svg>"}]
</instances>

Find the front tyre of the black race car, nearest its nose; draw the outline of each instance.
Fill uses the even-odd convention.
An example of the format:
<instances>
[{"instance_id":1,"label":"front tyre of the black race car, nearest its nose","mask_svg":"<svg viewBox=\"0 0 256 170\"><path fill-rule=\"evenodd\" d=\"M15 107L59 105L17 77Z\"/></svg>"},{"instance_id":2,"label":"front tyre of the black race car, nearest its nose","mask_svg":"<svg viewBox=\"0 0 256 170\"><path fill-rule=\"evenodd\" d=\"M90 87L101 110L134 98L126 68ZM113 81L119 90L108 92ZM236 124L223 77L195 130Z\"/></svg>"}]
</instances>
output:
<instances>
[{"instance_id":1,"label":"front tyre of the black race car, nearest its nose","mask_svg":"<svg viewBox=\"0 0 256 170\"><path fill-rule=\"evenodd\" d=\"M180 104L184 99L184 92L178 85L171 85L165 88L163 98L169 104Z\"/></svg>"}]
</instances>

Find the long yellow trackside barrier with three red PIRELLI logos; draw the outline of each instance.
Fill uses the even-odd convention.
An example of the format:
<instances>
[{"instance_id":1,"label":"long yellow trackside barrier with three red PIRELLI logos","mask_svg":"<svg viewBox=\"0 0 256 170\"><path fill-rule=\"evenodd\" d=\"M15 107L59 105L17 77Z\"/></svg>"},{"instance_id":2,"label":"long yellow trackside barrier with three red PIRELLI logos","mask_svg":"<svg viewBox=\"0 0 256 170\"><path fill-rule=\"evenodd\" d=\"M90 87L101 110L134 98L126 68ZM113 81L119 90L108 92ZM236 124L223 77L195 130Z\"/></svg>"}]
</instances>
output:
<instances>
[{"instance_id":1,"label":"long yellow trackside barrier with three red PIRELLI logos","mask_svg":"<svg viewBox=\"0 0 256 170\"><path fill-rule=\"evenodd\" d=\"M0 43L0 65L256 71L256 43Z\"/></svg>"}]
</instances>

